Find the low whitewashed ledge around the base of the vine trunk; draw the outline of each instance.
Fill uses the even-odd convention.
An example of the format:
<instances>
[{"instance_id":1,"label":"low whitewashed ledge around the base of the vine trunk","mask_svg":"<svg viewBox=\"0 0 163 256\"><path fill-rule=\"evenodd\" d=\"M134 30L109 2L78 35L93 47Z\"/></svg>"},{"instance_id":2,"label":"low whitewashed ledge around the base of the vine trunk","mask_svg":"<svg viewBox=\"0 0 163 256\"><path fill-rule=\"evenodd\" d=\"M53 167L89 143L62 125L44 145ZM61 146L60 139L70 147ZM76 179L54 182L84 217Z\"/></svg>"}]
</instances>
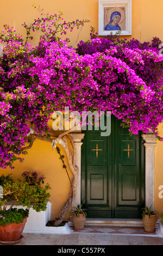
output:
<instances>
[{"instance_id":1,"label":"low whitewashed ledge around the base of the vine trunk","mask_svg":"<svg viewBox=\"0 0 163 256\"><path fill-rule=\"evenodd\" d=\"M10 204L8 204L8 208ZM23 207L22 205L14 206L17 209ZM8 209L7 208L7 209ZM32 208L29 209L29 217L27 218L26 225L24 227L23 233L39 233L39 234L71 234L72 230L68 223L63 227L46 227L47 222L51 217L51 203L47 202L46 211L36 212Z\"/></svg>"}]
</instances>

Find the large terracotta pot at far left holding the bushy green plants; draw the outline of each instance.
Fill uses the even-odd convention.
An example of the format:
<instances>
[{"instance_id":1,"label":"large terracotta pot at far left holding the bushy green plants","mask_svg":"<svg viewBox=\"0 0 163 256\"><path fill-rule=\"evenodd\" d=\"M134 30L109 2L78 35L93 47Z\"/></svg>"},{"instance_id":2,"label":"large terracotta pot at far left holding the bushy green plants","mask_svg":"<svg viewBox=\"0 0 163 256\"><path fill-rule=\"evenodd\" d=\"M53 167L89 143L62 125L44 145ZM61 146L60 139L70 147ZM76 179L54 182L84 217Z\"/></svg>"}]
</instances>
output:
<instances>
[{"instance_id":1,"label":"large terracotta pot at far left holding the bushy green plants","mask_svg":"<svg viewBox=\"0 0 163 256\"><path fill-rule=\"evenodd\" d=\"M0 225L0 241L17 241L21 239L24 226L27 222L27 218L24 218L22 223L11 223L2 227Z\"/></svg>"}]
</instances>

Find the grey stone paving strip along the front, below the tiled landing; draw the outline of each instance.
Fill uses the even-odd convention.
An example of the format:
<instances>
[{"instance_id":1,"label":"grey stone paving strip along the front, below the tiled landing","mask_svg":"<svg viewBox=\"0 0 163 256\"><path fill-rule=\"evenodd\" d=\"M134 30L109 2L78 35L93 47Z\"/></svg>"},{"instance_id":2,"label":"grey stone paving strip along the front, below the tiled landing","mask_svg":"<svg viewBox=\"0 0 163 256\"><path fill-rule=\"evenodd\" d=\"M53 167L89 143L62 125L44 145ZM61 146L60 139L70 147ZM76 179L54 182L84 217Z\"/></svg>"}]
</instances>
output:
<instances>
[{"instance_id":1,"label":"grey stone paving strip along the front, below the tiled landing","mask_svg":"<svg viewBox=\"0 0 163 256\"><path fill-rule=\"evenodd\" d=\"M24 234L16 245L163 245L162 237L73 233L69 235Z\"/></svg>"}]
</instances>

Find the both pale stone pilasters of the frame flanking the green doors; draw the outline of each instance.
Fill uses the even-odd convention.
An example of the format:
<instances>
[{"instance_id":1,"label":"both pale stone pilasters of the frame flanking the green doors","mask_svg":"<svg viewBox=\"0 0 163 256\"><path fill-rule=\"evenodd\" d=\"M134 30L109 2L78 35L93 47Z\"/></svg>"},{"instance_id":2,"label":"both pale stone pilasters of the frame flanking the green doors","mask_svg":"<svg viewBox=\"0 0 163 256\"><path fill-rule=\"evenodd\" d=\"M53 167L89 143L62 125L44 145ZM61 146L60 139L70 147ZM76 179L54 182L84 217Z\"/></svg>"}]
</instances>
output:
<instances>
[{"instance_id":1,"label":"both pale stone pilasters of the frame flanking the green doors","mask_svg":"<svg viewBox=\"0 0 163 256\"><path fill-rule=\"evenodd\" d=\"M76 166L79 169L78 174L78 187L76 192L76 197L73 199L72 207L81 204L81 147L82 139L84 138L84 133L70 133L73 138L74 146L76 148ZM142 138L145 143L145 205L153 206L154 209L154 148L155 135L152 133L143 134Z\"/></svg>"}]
</instances>

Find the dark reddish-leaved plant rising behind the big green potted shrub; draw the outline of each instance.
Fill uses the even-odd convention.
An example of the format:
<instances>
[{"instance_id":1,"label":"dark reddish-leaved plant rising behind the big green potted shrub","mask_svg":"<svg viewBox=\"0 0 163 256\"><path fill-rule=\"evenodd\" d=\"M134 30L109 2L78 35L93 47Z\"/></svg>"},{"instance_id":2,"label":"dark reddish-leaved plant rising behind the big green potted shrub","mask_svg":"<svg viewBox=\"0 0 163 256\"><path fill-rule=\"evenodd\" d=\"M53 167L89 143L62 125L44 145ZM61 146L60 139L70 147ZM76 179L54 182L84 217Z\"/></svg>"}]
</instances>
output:
<instances>
[{"instance_id":1,"label":"dark reddish-leaved plant rising behind the big green potted shrub","mask_svg":"<svg viewBox=\"0 0 163 256\"><path fill-rule=\"evenodd\" d=\"M28 182L30 186L35 186L36 184L40 185L44 183L45 176L38 176L37 172L23 172L22 176L24 177L24 182Z\"/></svg>"}]
</instances>

